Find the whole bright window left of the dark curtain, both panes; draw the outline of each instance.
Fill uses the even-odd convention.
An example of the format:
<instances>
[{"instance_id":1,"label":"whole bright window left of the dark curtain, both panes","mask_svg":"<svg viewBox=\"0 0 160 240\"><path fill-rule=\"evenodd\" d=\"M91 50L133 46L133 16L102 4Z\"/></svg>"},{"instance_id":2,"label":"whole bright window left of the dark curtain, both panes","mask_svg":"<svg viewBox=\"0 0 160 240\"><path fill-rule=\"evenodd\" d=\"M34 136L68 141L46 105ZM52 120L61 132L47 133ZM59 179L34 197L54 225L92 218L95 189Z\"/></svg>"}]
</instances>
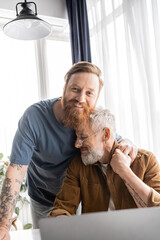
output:
<instances>
[{"instance_id":1,"label":"whole bright window left of the dark curtain, both panes","mask_svg":"<svg viewBox=\"0 0 160 240\"><path fill-rule=\"evenodd\" d=\"M0 30L0 152L6 156L20 117L41 100L43 88L48 86L45 98L62 96L64 75L72 65L71 49L67 20L56 20L55 25L53 36L40 44L11 39Z\"/></svg>"}]
</instances>

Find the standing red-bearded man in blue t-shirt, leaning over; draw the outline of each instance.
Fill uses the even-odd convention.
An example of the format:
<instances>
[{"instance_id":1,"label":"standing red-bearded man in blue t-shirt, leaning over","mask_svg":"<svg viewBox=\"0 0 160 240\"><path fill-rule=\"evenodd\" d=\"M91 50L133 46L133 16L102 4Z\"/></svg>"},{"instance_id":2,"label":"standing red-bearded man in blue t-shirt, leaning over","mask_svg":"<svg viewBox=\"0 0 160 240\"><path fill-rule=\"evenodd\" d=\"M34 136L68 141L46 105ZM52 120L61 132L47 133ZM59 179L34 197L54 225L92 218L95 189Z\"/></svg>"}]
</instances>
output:
<instances>
[{"instance_id":1,"label":"standing red-bearded man in blue t-shirt, leaning over","mask_svg":"<svg viewBox=\"0 0 160 240\"><path fill-rule=\"evenodd\" d=\"M39 218L52 209L68 164L77 154L73 129L85 123L95 108L102 86L100 69L94 64L79 62L65 76L62 99L41 101L24 112L1 193L0 240L4 236L9 238L12 214L26 171L33 227L38 228ZM125 147L122 143L121 147L135 158L135 147Z\"/></svg>"}]
</instances>

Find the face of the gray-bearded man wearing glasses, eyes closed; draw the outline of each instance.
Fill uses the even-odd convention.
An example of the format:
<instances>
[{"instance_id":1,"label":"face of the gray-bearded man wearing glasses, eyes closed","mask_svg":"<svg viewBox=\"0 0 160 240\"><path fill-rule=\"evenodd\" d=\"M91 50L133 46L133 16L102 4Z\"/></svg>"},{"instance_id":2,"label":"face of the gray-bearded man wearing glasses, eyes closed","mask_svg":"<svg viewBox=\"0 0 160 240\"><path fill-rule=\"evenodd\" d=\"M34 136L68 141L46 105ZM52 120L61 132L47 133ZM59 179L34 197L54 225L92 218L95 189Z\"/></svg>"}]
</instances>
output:
<instances>
[{"instance_id":1,"label":"face of the gray-bearded man wearing glasses, eyes closed","mask_svg":"<svg viewBox=\"0 0 160 240\"><path fill-rule=\"evenodd\" d=\"M75 147L80 148L81 158L85 165L102 161L105 157L104 129L96 132L89 127L76 131Z\"/></svg>"}]
</instances>

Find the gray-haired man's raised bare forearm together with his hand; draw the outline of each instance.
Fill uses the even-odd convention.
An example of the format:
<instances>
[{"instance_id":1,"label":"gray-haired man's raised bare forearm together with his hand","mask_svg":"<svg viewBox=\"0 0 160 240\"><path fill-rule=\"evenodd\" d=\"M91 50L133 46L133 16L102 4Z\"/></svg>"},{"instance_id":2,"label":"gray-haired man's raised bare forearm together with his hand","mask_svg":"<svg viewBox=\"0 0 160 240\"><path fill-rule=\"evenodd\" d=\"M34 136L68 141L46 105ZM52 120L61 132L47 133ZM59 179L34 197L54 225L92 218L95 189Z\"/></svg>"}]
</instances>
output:
<instances>
[{"instance_id":1,"label":"gray-haired man's raised bare forearm together with his hand","mask_svg":"<svg viewBox=\"0 0 160 240\"><path fill-rule=\"evenodd\" d=\"M131 158L122 153L119 149L115 150L111 160L111 167L124 181L128 191L132 195L137 207L147 207L150 194L150 187L138 178L131 170Z\"/></svg>"}]
</instances>

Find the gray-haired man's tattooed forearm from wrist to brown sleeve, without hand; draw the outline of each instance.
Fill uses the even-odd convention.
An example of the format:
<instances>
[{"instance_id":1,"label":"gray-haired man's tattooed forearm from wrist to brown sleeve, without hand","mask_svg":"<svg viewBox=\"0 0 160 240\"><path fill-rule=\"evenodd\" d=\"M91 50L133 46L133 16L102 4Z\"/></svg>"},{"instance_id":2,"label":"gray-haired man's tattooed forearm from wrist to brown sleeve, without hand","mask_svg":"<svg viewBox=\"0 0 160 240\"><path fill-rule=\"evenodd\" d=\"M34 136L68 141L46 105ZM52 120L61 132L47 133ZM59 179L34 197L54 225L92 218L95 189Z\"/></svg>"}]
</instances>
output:
<instances>
[{"instance_id":1,"label":"gray-haired man's tattooed forearm from wrist to brown sleeve, without hand","mask_svg":"<svg viewBox=\"0 0 160 240\"><path fill-rule=\"evenodd\" d=\"M138 208L148 207L150 187L138 178L131 169L121 177Z\"/></svg>"}]
</instances>

